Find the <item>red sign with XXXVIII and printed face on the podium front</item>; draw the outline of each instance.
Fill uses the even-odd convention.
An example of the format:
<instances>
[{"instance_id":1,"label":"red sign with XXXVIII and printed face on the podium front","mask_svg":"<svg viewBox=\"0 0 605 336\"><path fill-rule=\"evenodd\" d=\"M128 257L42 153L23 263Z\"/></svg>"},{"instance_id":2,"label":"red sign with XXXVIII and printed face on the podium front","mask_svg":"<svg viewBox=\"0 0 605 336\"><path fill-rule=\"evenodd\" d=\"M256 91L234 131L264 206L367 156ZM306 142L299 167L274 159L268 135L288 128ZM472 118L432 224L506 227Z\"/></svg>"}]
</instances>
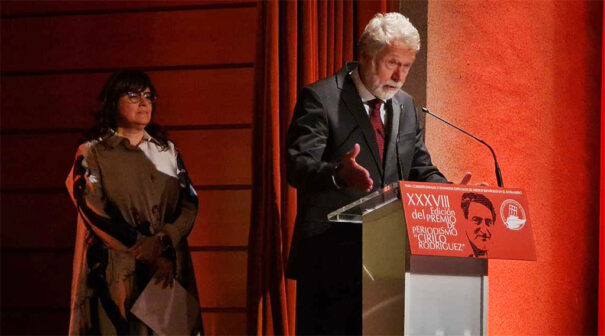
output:
<instances>
[{"instance_id":1,"label":"red sign with XXXVIII and printed face on the podium front","mask_svg":"<svg viewBox=\"0 0 605 336\"><path fill-rule=\"evenodd\" d=\"M521 189L400 182L412 254L536 260Z\"/></svg>"}]
</instances>

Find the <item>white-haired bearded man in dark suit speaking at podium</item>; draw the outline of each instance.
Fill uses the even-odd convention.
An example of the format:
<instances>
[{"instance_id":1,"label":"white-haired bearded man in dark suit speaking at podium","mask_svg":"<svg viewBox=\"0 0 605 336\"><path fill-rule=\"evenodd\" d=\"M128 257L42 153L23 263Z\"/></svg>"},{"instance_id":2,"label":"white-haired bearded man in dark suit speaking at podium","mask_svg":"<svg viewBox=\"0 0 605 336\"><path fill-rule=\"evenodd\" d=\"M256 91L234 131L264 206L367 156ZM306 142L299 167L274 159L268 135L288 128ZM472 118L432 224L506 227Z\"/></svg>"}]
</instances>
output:
<instances>
[{"instance_id":1,"label":"white-haired bearded man in dark suit speaking at podium","mask_svg":"<svg viewBox=\"0 0 605 336\"><path fill-rule=\"evenodd\" d=\"M298 97L286 155L298 195L287 269L297 280L297 334L361 333L361 227L327 214L398 180L447 182L400 90L419 48L407 18L377 14L360 38L359 63Z\"/></svg>"}]
</instances>

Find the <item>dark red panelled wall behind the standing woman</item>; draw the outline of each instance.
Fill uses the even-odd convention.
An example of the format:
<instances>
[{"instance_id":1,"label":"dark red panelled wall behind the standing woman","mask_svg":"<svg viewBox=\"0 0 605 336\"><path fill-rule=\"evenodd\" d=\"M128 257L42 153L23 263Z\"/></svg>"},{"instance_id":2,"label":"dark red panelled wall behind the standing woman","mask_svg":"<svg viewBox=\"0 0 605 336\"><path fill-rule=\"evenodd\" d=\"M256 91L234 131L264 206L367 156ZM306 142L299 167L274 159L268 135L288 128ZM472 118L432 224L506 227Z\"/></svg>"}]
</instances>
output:
<instances>
[{"instance_id":1,"label":"dark red panelled wall behind the standing woman","mask_svg":"<svg viewBox=\"0 0 605 336\"><path fill-rule=\"evenodd\" d=\"M189 237L207 334L243 334L256 2L2 2L2 333L65 334L76 213L64 181L116 68L146 70L200 196Z\"/></svg>"}]
</instances>

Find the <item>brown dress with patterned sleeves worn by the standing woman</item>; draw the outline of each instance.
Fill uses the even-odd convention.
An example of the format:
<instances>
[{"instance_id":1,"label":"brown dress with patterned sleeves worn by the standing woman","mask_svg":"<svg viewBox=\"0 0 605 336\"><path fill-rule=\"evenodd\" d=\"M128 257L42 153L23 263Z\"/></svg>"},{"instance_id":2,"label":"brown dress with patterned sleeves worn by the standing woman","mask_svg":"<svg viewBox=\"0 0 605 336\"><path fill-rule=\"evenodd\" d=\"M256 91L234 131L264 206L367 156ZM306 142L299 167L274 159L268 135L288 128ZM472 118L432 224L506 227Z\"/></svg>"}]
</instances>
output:
<instances>
[{"instance_id":1,"label":"brown dress with patterned sleeves worn by the standing woman","mask_svg":"<svg viewBox=\"0 0 605 336\"><path fill-rule=\"evenodd\" d=\"M153 267L129 249L160 231L176 250L176 281L197 299L187 246L197 196L172 143L162 146L148 134L137 147L116 134L89 141L79 147L66 184L78 208L70 335L149 335L130 308ZM202 332L199 314L194 324L191 333Z\"/></svg>"}]
</instances>

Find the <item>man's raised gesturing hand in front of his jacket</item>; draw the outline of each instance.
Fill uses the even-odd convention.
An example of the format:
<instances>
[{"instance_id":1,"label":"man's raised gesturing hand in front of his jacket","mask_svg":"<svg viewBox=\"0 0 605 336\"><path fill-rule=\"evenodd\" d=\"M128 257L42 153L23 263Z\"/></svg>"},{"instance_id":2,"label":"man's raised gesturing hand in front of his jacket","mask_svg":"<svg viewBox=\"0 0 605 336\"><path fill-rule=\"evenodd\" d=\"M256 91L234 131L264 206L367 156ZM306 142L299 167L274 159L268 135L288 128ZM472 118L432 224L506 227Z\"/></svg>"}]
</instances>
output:
<instances>
[{"instance_id":1,"label":"man's raised gesturing hand in front of his jacket","mask_svg":"<svg viewBox=\"0 0 605 336\"><path fill-rule=\"evenodd\" d=\"M370 173L355 162L359 155L361 147L355 144L350 152L345 153L340 159L340 167L336 172L336 182L338 185L357 190L369 192L372 190L374 182L370 178Z\"/></svg>"}]
</instances>

